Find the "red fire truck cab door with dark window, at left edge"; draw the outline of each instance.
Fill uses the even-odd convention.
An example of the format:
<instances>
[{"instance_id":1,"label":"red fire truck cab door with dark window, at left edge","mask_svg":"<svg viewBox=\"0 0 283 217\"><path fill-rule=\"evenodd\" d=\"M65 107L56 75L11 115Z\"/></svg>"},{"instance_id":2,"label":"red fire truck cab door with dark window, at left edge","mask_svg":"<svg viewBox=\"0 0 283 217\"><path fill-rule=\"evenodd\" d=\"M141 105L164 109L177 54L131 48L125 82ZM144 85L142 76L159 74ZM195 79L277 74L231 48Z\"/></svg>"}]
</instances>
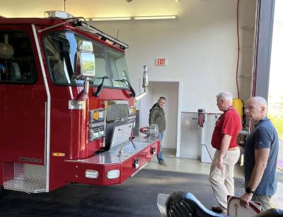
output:
<instances>
[{"instance_id":1,"label":"red fire truck cab door with dark window, at left edge","mask_svg":"<svg viewBox=\"0 0 283 217\"><path fill-rule=\"evenodd\" d=\"M31 25L0 25L0 161L45 164L47 94Z\"/></svg>"}]
</instances>

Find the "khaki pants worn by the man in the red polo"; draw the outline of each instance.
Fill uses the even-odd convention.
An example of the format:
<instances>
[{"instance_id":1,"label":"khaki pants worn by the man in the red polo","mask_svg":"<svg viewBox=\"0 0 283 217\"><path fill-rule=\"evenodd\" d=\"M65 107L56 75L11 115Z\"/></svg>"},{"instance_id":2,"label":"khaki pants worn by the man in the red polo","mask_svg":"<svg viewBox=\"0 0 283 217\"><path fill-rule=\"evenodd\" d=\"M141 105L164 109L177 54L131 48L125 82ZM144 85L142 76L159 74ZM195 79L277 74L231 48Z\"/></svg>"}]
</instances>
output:
<instances>
[{"instance_id":1,"label":"khaki pants worn by the man in the red polo","mask_svg":"<svg viewBox=\"0 0 283 217\"><path fill-rule=\"evenodd\" d=\"M227 151L223 158L224 169L217 168L217 159L220 151L216 151L210 168L209 181L216 200L223 209L227 209L227 195L234 195L234 165L240 157L240 150Z\"/></svg>"}]
</instances>

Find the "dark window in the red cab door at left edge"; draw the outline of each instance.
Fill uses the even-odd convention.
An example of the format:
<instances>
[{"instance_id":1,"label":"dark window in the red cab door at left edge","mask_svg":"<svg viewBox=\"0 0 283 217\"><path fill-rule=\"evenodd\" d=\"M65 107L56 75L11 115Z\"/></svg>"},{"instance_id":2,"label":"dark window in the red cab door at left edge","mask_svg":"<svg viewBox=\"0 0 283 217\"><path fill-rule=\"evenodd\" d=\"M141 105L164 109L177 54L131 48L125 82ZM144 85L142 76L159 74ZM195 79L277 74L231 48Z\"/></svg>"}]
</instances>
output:
<instances>
[{"instance_id":1,"label":"dark window in the red cab door at left edge","mask_svg":"<svg viewBox=\"0 0 283 217\"><path fill-rule=\"evenodd\" d=\"M0 83L34 83L37 79L34 54L28 34L0 32Z\"/></svg>"}]
</instances>

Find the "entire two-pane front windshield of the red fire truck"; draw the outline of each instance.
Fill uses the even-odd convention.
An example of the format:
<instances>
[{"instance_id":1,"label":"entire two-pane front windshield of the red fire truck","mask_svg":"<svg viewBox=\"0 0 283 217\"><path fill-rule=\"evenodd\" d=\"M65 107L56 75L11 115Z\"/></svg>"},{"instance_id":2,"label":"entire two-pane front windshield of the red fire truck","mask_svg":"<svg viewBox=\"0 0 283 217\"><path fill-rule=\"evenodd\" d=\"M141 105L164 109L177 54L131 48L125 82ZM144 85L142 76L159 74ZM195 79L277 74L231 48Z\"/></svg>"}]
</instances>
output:
<instances>
[{"instance_id":1,"label":"entire two-pane front windshield of the red fire truck","mask_svg":"<svg viewBox=\"0 0 283 217\"><path fill-rule=\"evenodd\" d=\"M102 45L94 40L72 32L56 32L44 37L45 57L49 66L52 81L62 85L83 85L83 80L75 76L76 55L80 42L91 42L95 55L96 75L91 85L98 86L102 78L107 76L103 86L129 88L125 53Z\"/></svg>"}]
</instances>

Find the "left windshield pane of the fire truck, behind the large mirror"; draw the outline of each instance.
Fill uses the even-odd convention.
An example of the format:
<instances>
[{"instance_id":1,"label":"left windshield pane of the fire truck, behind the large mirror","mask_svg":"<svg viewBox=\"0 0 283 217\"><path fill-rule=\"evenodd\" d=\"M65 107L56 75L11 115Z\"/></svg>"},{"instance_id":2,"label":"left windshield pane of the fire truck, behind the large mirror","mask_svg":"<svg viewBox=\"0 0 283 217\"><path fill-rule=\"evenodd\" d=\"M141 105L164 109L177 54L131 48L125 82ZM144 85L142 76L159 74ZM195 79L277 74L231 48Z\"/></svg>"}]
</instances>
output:
<instances>
[{"instance_id":1,"label":"left windshield pane of the fire truck, behind the large mirror","mask_svg":"<svg viewBox=\"0 0 283 217\"><path fill-rule=\"evenodd\" d=\"M52 80L60 84L82 84L83 80L74 76L75 55L78 52L80 41L88 41L86 38L71 32L52 33L45 37L45 53L50 68ZM89 40L90 41L90 40ZM97 42L92 42L93 52L96 58L96 77L93 84L101 83L100 77L108 76L108 67L105 61L105 47ZM111 81L106 79L105 86L112 86Z\"/></svg>"}]
</instances>

